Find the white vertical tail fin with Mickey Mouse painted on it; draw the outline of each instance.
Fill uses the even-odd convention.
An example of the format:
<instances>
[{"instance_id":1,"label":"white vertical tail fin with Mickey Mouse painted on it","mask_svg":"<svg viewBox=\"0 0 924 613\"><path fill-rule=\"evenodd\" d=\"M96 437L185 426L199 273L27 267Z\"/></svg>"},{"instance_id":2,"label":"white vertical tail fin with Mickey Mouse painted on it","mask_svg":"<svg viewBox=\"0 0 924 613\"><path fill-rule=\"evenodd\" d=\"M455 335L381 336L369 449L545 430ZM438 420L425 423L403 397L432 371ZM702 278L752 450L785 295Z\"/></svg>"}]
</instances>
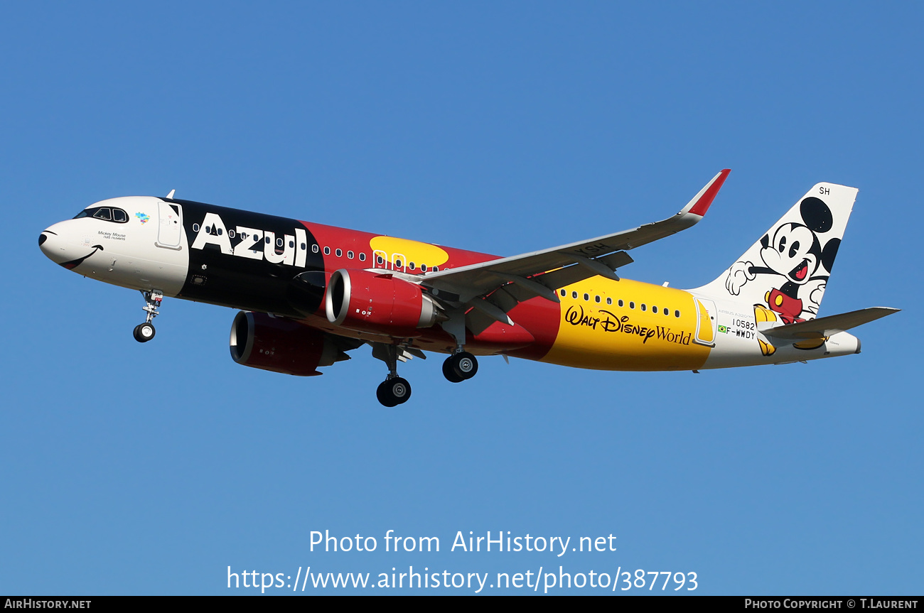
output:
<instances>
[{"instance_id":1,"label":"white vertical tail fin with Mickey Mouse painted on it","mask_svg":"<svg viewBox=\"0 0 924 613\"><path fill-rule=\"evenodd\" d=\"M814 319L857 188L819 183L719 277L693 292L764 306L785 323Z\"/></svg>"}]
</instances>

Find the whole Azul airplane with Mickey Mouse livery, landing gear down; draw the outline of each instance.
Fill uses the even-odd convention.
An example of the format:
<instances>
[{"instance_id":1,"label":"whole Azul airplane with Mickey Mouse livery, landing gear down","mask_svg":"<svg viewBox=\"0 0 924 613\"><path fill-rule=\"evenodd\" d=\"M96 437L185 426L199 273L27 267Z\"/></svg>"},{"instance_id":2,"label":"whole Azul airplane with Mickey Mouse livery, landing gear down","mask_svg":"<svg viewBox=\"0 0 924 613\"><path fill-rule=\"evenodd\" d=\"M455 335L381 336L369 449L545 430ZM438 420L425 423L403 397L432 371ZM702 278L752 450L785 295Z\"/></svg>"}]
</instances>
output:
<instances>
[{"instance_id":1,"label":"whole Azul airplane with Mickey Mouse livery, landing gear down","mask_svg":"<svg viewBox=\"0 0 924 613\"><path fill-rule=\"evenodd\" d=\"M174 198L105 199L42 232L45 256L139 290L154 337L164 296L240 309L237 364L310 377L371 345L376 396L407 402L397 365L448 354L445 379L502 355L602 370L692 370L858 354L847 330L897 312L818 318L857 188L819 183L716 279L681 290L622 278L628 251L702 220L729 174L673 217L509 258Z\"/></svg>"}]
</instances>

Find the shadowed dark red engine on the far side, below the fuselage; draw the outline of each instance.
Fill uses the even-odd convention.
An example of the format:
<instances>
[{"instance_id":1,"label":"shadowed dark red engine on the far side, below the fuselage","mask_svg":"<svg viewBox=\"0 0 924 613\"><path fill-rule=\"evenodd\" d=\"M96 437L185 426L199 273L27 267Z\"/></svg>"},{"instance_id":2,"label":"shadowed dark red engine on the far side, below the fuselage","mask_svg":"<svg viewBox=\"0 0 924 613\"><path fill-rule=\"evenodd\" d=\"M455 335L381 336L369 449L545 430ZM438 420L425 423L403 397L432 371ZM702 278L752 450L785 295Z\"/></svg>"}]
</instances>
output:
<instances>
[{"instance_id":1,"label":"shadowed dark red engine on the far side, below the fuselage","mask_svg":"<svg viewBox=\"0 0 924 613\"><path fill-rule=\"evenodd\" d=\"M346 359L327 334L291 319L240 311L231 325L231 357L246 367L313 377Z\"/></svg>"}]
</instances>

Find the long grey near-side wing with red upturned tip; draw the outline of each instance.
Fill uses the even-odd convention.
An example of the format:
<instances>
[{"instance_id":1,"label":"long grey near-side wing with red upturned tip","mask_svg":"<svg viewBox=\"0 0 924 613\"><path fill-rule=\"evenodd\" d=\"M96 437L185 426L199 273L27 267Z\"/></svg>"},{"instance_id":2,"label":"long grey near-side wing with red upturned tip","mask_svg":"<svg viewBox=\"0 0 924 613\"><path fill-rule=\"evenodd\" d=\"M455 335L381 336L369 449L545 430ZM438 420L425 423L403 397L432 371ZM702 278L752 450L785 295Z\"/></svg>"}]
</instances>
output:
<instances>
[{"instance_id":1,"label":"long grey near-side wing with red upturned tip","mask_svg":"<svg viewBox=\"0 0 924 613\"><path fill-rule=\"evenodd\" d=\"M492 320L512 323L505 313L523 300L538 295L557 302L555 290L595 275L618 280L614 269L632 262L626 253L628 249L676 234L699 222L730 172L725 169L713 176L686 207L660 222L511 258L430 272L423 283L438 290L437 295L476 307ZM498 292L502 287L503 291ZM491 296L487 300L480 298L485 294Z\"/></svg>"}]
</instances>

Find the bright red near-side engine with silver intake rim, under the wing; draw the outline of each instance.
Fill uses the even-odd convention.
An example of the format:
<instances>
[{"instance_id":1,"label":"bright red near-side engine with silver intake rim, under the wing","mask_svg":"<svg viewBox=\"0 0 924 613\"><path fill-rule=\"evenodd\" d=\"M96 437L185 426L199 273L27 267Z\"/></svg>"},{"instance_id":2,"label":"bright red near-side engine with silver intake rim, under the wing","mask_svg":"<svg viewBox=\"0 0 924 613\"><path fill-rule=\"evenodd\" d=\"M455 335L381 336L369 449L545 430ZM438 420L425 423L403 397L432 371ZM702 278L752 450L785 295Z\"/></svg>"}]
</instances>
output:
<instances>
[{"instance_id":1,"label":"bright red near-side engine with silver intake rim, under the wing","mask_svg":"<svg viewBox=\"0 0 924 613\"><path fill-rule=\"evenodd\" d=\"M341 269L324 297L327 320L344 328L416 335L441 320L439 308L416 283L391 274Z\"/></svg>"}]
</instances>

